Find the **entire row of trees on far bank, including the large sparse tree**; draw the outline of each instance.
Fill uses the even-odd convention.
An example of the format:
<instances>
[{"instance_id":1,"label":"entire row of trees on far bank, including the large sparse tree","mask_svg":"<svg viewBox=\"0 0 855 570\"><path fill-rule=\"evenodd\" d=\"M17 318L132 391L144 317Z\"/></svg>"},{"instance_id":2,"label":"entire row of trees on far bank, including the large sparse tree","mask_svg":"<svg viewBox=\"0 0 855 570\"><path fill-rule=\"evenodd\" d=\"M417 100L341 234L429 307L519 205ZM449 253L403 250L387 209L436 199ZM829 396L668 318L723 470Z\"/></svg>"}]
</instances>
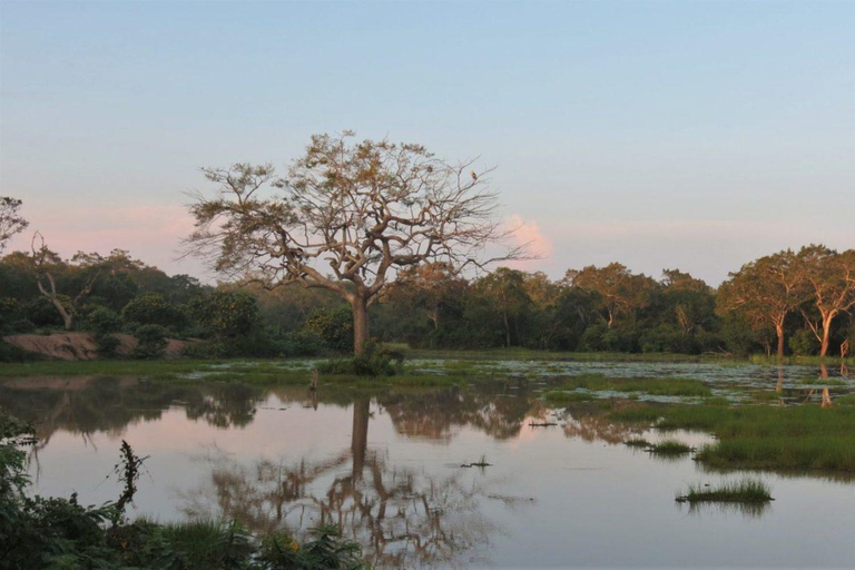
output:
<instances>
[{"instance_id":1,"label":"entire row of trees on far bank, including the large sparse tree","mask_svg":"<svg viewBox=\"0 0 855 570\"><path fill-rule=\"evenodd\" d=\"M186 253L210 263L218 287L166 276L118 249L63 261L37 233L31 252L0 263L2 326L55 318L66 330L98 328L105 348L117 328L139 337L137 327L148 326L144 353L163 346L164 330L151 327L164 326L226 353L309 354L350 343L362 355L371 338L778 356L846 354L853 344L853 249L767 255L717 289L678 269L655 278L619 263L558 281L508 267L487 273L533 257L497 218L491 169L354 136L313 136L284 174L243 163L203 169L213 188L194 195ZM20 206L0 198L0 253L27 227ZM99 306L107 312L95 314Z\"/></svg>"}]
</instances>

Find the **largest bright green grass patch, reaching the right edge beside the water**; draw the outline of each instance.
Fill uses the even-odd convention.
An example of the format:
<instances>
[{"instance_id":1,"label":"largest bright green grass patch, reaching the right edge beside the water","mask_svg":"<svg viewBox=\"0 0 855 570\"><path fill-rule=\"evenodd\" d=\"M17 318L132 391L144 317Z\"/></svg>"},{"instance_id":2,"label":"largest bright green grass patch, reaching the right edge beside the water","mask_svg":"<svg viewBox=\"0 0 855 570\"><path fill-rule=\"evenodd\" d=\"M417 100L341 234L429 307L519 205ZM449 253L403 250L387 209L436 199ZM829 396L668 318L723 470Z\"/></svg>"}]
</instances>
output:
<instances>
[{"instance_id":1,"label":"largest bright green grass patch, reaching the right edge beside the water","mask_svg":"<svg viewBox=\"0 0 855 570\"><path fill-rule=\"evenodd\" d=\"M715 433L696 460L717 469L772 469L855 473L855 407L818 405L636 406L615 421L657 429Z\"/></svg>"}]
</instances>

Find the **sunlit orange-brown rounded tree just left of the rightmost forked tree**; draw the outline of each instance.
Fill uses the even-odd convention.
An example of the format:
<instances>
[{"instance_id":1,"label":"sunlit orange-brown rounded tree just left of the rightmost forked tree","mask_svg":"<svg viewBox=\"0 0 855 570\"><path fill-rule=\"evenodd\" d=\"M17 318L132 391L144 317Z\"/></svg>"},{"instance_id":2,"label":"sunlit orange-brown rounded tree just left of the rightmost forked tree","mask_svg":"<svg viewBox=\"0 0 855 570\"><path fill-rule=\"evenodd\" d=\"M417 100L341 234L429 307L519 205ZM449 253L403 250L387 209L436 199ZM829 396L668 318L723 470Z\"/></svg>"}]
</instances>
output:
<instances>
[{"instance_id":1,"label":"sunlit orange-brown rounded tree just left of the rightmost forked tree","mask_svg":"<svg viewBox=\"0 0 855 570\"><path fill-rule=\"evenodd\" d=\"M787 249L745 264L718 288L718 309L738 311L756 330L772 326L777 336L777 355L784 356L785 322L807 298L804 273L796 254Z\"/></svg>"}]
</instances>

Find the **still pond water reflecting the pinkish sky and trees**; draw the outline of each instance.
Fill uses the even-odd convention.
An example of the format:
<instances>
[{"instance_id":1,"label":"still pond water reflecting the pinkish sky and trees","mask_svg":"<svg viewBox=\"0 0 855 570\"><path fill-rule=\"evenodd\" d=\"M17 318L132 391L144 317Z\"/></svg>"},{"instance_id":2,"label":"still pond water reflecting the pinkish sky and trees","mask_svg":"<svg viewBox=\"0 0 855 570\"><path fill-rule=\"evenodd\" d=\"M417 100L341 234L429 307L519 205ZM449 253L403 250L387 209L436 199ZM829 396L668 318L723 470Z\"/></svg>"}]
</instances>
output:
<instances>
[{"instance_id":1,"label":"still pond water reflecting the pinkish sky and trees","mask_svg":"<svg viewBox=\"0 0 855 570\"><path fill-rule=\"evenodd\" d=\"M767 368L743 375L774 387ZM689 510L675 502L687 484L741 474L657 460L622 442L662 435L539 395L514 380L316 394L136 377L0 385L2 405L37 423L35 492L116 499L121 440L148 455L132 515L238 519L298 537L334 522L381 568L855 566L855 483L755 473L773 488L768 508ZM462 466L482 458L488 466Z\"/></svg>"}]
</instances>

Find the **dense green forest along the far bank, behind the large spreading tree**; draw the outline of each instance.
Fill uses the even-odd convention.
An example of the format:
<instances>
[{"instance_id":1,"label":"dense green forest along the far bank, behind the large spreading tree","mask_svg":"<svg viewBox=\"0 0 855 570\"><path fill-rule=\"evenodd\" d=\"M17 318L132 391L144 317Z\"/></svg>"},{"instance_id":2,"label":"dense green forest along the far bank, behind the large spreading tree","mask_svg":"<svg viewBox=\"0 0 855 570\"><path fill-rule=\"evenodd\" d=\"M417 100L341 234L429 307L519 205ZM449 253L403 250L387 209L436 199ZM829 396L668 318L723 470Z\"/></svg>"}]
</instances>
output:
<instances>
[{"instance_id":1,"label":"dense green forest along the far bank, behind the large spreading tree","mask_svg":"<svg viewBox=\"0 0 855 570\"><path fill-rule=\"evenodd\" d=\"M2 335L89 332L105 357L118 333L139 340L138 357L160 356L167 337L191 340L186 353L196 357L330 355L353 344L352 307L322 288L206 285L122 249L63 259L39 234L32 244L0 257ZM853 307L855 249L808 245L750 262L717 288L679 269L655 278L617 262L560 279L424 263L399 271L368 315L373 341L414 348L845 356ZM21 357L8 344L2 354Z\"/></svg>"}]
</instances>

